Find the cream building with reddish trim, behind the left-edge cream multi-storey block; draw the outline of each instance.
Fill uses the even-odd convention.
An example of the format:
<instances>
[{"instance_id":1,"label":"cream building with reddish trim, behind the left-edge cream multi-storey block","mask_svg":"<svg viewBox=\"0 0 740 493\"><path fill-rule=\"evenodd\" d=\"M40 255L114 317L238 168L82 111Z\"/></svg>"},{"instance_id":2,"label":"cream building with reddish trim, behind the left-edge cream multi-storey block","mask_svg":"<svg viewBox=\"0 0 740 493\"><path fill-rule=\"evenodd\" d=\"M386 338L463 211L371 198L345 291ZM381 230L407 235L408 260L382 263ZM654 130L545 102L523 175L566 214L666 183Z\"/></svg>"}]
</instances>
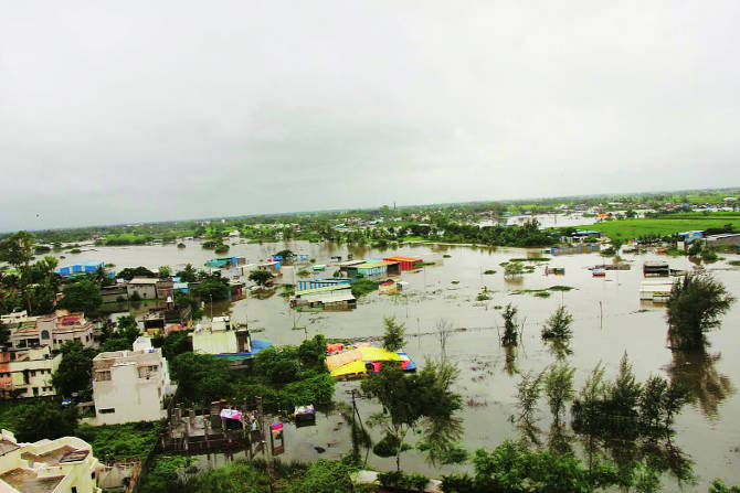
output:
<instances>
[{"instance_id":1,"label":"cream building with reddish trim, behind the left-edge cream multi-storey block","mask_svg":"<svg viewBox=\"0 0 740 493\"><path fill-rule=\"evenodd\" d=\"M10 330L10 345L14 349L49 345L53 351L66 341L80 341L85 347L93 344L93 324L84 313L56 310L49 315L29 317Z\"/></svg>"}]
</instances>

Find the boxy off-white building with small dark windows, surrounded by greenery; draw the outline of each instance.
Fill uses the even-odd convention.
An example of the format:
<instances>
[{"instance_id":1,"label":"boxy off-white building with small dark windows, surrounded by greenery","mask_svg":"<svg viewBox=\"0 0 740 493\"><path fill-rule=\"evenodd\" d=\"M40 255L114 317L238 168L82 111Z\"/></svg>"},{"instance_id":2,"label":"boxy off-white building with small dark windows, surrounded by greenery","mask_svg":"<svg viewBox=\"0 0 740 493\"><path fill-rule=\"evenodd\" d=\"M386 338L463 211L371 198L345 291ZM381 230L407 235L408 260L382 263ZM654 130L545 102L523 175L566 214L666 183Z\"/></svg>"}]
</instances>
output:
<instances>
[{"instance_id":1,"label":"boxy off-white building with small dark windows, surrounded by greenery","mask_svg":"<svg viewBox=\"0 0 740 493\"><path fill-rule=\"evenodd\" d=\"M156 421L167 416L165 397L175 393L167 360L151 340L139 337L137 351L101 353L93 358L96 425Z\"/></svg>"}]
</instances>

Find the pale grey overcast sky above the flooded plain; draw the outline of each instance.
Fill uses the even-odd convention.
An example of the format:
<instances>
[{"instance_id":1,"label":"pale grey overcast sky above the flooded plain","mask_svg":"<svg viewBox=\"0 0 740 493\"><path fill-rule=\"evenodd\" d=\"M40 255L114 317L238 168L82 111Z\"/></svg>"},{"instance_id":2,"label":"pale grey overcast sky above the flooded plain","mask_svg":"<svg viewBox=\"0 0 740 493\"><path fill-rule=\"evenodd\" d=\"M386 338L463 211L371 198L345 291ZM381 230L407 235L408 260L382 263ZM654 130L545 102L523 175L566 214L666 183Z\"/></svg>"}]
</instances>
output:
<instances>
[{"instance_id":1,"label":"pale grey overcast sky above the flooded plain","mask_svg":"<svg viewBox=\"0 0 740 493\"><path fill-rule=\"evenodd\" d=\"M740 185L740 2L0 0L0 231Z\"/></svg>"}]
</instances>

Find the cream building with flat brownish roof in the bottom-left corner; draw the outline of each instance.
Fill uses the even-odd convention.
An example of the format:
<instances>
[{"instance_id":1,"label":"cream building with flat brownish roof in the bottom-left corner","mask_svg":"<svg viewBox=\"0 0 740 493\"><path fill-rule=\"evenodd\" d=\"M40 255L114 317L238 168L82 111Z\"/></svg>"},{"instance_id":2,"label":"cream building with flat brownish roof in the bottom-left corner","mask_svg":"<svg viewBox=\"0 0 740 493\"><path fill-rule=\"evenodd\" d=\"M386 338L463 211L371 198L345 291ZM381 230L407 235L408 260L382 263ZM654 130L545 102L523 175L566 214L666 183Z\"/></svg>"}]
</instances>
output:
<instances>
[{"instance_id":1,"label":"cream building with flat brownish roof in the bottom-left corner","mask_svg":"<svg viewBox=\"0 0 740 493\"><path fill-rule=\"evenodd\" d=\"M91 446L77 437L19 443L0 431L0 492L102 493L98 467Z\"/></svg>"}]
</instances>

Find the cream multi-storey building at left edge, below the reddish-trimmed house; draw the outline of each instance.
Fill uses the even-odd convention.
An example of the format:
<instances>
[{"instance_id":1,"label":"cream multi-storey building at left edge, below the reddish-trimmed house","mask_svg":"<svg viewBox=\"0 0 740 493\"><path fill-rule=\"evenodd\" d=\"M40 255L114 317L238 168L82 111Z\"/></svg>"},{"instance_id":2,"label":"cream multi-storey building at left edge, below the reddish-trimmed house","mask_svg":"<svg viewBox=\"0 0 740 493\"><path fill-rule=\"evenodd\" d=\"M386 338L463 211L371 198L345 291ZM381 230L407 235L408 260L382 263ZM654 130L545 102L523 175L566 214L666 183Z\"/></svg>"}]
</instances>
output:
<instances>
[{"instance_id":1,"label":"cream multi-storey building at left edge, below the reddish-trimmed house","mask_svg":"<svg viewBox=\"0 0 740 493\"><path fill-rule=\"evenodd\" d=\"M52 354L50 347L36 346L25 350L0 351L0 396L45 397L56 395L52 374L59 368L61 354Z\"/></svg>"}]
</instances>

